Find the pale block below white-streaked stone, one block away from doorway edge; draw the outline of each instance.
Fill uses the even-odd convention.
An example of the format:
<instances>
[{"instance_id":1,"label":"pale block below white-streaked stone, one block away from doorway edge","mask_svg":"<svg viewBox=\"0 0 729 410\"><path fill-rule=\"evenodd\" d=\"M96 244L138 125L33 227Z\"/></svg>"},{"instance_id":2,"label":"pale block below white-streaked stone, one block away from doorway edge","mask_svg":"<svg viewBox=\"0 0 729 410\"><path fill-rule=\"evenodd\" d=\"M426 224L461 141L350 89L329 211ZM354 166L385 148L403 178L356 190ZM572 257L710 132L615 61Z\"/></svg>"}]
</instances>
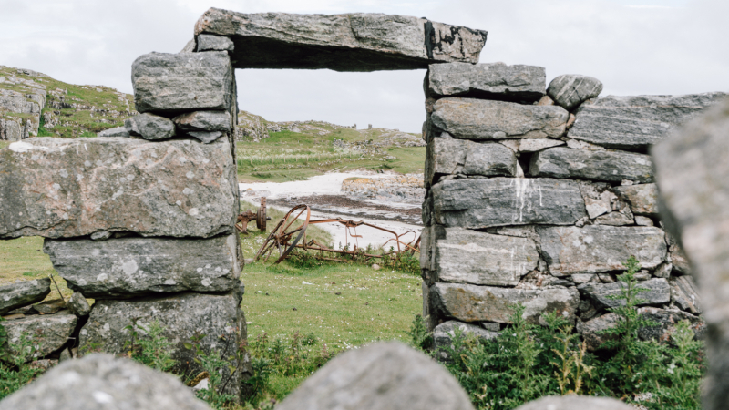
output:
<instances>
[{"instance_id":1,"label":"pale block below white-streaked stone, one block away from doorway edge","mask_svg":"<svg viewBox=\"0 0 729 410\"><path fill-rule=\"evenodd\" d=\"M537 227L541 254L556 275L624 271L635 256L644 269L666 260L663 231L655 227Z\"/></svg>"}]
</instances>

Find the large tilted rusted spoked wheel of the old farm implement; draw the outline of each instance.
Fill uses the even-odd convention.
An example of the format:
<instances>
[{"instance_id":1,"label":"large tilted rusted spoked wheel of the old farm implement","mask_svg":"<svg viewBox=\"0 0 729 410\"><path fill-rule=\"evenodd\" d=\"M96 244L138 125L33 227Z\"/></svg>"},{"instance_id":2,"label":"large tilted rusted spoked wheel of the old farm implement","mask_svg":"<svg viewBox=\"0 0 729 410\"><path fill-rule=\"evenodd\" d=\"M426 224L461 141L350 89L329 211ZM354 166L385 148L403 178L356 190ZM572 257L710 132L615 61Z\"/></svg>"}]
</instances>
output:
<instances>
[{"instance_id":1,"label":"large tilted rusted spoked wheel of the old farm implement","mask_svg":"<svg viewBox=\"0 0 729 410\"><path fill-rule=\"evenodd\" d=\"M305 213L305 216L303 216ZM299 225L297 220L303 217L303 223ZM301 241L306 228L309 227L309 220L312 217L312 210L308 205L297 205L289 210L289 213L276 225L271 234L263 242L261 249L256 253L256 261L265 256L264 261L271 258L273 250L279 251L279 259L273 264L280 263Z\"/></svg>"}]
</instances>

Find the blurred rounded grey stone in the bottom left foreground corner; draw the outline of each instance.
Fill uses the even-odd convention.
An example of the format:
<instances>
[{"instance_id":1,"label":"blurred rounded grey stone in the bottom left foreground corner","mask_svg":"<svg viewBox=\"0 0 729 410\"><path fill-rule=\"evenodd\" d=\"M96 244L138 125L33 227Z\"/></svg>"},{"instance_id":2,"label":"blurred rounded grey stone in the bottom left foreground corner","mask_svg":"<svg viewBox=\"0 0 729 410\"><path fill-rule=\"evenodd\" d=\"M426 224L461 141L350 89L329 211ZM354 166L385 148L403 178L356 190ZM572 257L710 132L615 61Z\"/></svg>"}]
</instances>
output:
<instances>
[{"instance_id":1,"label":"blurred rounded grey stone in the bottom left foreground corner","mask_svg":"<svg viewBox=\"0 0 729 410\"><path fill-rule=\"evenodd\" d=\"M110 354L50 369L0 401L0 410L210 410L180 378Z\"/></svg>"}]
</instances>

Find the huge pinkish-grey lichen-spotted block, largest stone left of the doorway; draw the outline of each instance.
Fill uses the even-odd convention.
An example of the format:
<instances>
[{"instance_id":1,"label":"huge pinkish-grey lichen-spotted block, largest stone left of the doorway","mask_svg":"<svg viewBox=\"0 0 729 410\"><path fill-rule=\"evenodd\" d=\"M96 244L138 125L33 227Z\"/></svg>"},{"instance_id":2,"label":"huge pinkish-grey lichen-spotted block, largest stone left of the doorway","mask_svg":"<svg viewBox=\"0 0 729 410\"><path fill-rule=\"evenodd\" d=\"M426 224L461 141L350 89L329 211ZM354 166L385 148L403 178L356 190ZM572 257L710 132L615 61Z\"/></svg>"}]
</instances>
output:
<instances>
[{"instance_id":1,"label":"huge pinkish-grey lichen-spotted block, largest stone left of the doorway","mask_svg":"<svg viewBox=\"0 0 729 410\"><path fill-rule=\"evenodd\" d=\"M0 238L210 237L233 231L238 203L222 138L28 138L0 150Z\"/></svg>"}]
</instances>

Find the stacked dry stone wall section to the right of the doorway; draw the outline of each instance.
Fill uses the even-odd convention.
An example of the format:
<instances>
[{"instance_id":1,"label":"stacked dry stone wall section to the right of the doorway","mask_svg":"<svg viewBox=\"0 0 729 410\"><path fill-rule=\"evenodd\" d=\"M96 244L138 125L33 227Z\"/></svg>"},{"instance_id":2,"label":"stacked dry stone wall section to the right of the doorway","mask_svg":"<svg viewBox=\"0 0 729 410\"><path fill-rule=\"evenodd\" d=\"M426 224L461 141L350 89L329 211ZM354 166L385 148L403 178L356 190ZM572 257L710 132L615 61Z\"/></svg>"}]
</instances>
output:
<instances>
[{"instance_id":1,"label":"stacked dry stone wall section to the right of the doorway","mask_svg":"<svg viewBox=\"0 0 729 410\"><path fill-rule=\"evenodd\" d=\"M516 303L539 323L557 312L590 349L631 255L641 313L660 337L701 302L683 252L663 231L647 149L724 97L598 97L599 80L542 67L450 63L425 79L427 142L421 268L437 343L449 330L493 332Z\"/></svg>"}]
</instances>

